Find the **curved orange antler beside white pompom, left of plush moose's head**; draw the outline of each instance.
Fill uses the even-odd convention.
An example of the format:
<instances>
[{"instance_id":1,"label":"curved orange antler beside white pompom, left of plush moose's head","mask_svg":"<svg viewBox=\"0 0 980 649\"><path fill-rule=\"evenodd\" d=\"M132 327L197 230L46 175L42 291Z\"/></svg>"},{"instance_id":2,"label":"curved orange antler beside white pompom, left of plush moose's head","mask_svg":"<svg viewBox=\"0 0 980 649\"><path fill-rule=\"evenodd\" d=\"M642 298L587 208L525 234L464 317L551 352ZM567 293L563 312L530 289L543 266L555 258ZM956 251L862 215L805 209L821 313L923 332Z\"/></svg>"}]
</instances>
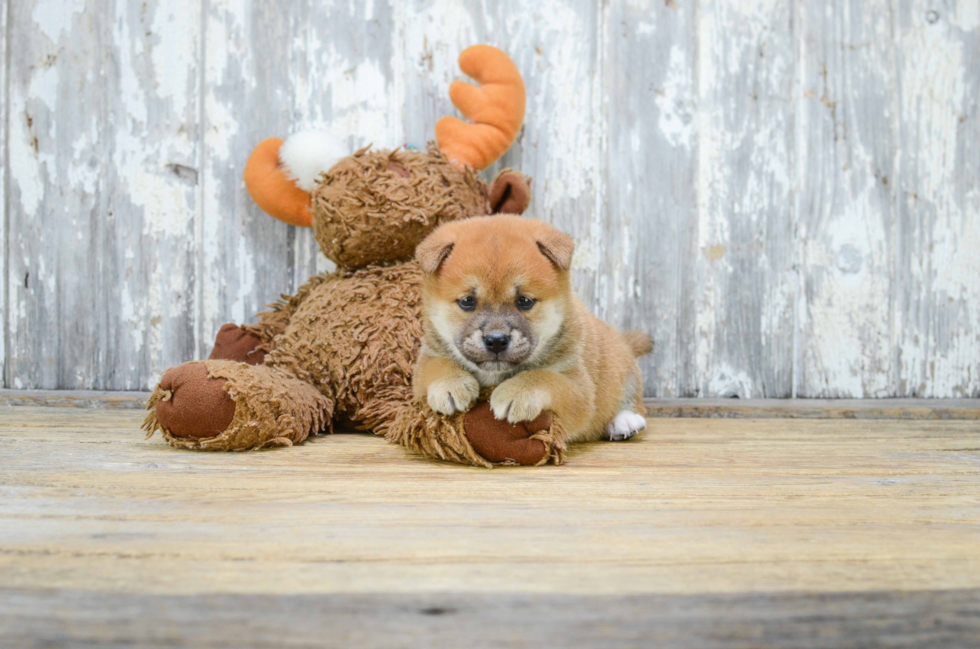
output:
<instances>
[{"instance_id":1,"label":"curved orange antler beside white pompom, left of plush moose's head","mask_svg":"<svg viewBox=\"0 0 980 649\"><path fill-rule=\"evenodd\" d=\"M245 189L266 214L308 228L313 225L307 209L310 195L297 187L280 167L281 146L282 140L276 137L259 142L245 163Z\"/></svg>"}]
</instances>

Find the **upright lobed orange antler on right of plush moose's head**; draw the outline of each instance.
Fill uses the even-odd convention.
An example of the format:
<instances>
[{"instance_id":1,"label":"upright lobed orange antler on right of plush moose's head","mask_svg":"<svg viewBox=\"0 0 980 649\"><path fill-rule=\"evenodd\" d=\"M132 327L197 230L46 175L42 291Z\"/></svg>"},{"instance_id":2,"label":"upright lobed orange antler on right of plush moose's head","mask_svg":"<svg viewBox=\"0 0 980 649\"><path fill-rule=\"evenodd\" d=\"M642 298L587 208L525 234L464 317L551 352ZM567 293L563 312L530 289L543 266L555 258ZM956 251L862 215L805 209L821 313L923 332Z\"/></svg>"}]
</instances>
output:
<instances>
[{"instance_id":1,"label":"upright lobed orange antler on right of plush moose's head","mask_svg":"<svg viewBox=\"0 0 980 649\"><path fill-rule=\"evenodd\" d=\"M524 80L510 57L489 45L459 55L459 67L480 86L454 81L449 98L472 123L443 117L436 123L439 148L457 164L485 169L514 143L524 121Z\"/></svg>"}]
</instances>

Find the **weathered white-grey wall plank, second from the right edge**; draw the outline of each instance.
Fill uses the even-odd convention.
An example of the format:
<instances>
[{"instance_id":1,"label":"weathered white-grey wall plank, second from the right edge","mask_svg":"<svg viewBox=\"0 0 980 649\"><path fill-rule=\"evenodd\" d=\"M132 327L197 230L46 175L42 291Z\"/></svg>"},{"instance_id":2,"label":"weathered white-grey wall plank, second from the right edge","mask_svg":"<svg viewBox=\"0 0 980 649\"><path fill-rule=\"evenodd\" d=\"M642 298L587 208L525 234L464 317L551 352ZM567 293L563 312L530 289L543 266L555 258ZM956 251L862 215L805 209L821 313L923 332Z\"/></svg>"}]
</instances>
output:
<instances>
[{"instance_id":1,"label":"weathered white-grey wall plank, second from the right edge","mask_svg":"<svg viewBox=\"0 0 980 649\"><path fill-rule=\"evenodd\" d=\"M899 394L892 3L801 3L801 397ZM860 314L856 317L855 314Z\"/></svg>"}]
</instances>

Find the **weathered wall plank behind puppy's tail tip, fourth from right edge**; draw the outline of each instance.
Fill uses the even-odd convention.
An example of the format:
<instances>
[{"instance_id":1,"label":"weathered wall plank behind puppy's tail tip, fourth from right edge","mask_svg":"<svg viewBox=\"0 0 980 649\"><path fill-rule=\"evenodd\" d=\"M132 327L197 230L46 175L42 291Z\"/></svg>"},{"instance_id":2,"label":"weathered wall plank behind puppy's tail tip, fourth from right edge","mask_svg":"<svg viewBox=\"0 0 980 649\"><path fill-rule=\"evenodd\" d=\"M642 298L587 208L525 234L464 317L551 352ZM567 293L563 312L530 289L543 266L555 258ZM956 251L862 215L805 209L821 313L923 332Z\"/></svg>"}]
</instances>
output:
<instances>
[{"instance_id":1,"label":"weathered wall plank behind puppy's tail tip, fourth from right edge","mask_svg":"<svg viewBox=\"0 0 980 649\"><path fill-rule=\"evenodd\" d=\"M701 393L694 3L611 3L603 19L605 209L596 313L650 334L654 397ZM638 65L639 61L649 64Z\"/></svg>"}]
</instances>

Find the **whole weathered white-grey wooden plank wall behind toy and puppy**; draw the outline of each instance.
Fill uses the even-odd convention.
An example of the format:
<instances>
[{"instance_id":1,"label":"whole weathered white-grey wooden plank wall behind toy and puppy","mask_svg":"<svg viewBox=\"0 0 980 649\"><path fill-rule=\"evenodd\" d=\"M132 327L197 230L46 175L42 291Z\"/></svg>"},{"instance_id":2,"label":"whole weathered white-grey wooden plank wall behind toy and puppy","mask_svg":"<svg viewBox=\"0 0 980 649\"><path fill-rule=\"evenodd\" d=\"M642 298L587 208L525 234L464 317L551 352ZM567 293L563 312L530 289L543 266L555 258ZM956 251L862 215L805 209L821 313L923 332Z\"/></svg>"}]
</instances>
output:
<instances>
[{"instance_id":1,"label":"whole weathered white-grey wooden plank wall behind toy and puppy","mask_svg":"<svg viewBox=\"0 0 980 649\"><path fill-rule=\"evenodd\" d=\"M980 396L980 0L2 6L4 387L146 389L329 269L251 147L424 145L489 42L528 87L495 169L655 337L648 396Z\"/></svg>"}]
</instances>

